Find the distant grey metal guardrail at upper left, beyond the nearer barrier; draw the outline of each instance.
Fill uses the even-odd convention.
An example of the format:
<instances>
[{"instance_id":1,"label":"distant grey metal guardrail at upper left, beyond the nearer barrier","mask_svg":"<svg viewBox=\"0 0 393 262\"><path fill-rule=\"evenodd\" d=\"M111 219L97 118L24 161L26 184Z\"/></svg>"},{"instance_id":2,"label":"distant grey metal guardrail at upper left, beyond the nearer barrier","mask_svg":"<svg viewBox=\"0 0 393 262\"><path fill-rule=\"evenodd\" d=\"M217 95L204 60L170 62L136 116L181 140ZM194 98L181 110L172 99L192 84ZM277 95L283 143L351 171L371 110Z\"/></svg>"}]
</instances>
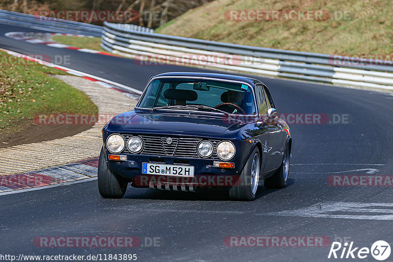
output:
<instances>
[{"instance_id":1,"label":"distant grey metal guardrail at upper left, beyond the nearer barrier","mask_svg":"<svg viewBox=\"0 0 393 262\"><path fill-rule=\"evenodd\" d=\"M90 25L87 23L62 19L46 18L6 10L0 10L0 23L58 33L87 34L93 36L101 36L103 33L103 26ZM122 25L122 28L142 32L152 32L153 30L143 26L128 24Z\"/></svg>"}]
</instances>

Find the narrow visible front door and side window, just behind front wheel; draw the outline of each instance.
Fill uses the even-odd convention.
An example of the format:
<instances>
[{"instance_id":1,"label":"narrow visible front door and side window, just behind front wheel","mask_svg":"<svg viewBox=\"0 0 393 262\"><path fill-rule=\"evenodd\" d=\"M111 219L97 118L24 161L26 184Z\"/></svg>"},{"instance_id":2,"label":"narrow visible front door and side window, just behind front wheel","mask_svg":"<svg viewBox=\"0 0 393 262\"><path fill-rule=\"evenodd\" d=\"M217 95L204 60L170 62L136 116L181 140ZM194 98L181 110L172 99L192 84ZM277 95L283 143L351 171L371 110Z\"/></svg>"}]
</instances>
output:
<instances>
[{"instance_id":1,"label":"narrow visible front door and side window, just behind front wheel","mask_svg":"<svg viewBox=\"0 0 393 262\"><path fill-rule=\"evenodd\" d=\"M269 151L269 126L266 121L267 103L262 85L255 85L255 98L258 105L259 121L256 122L256 127L259 129L259 135L256 136L262 144L262 164L261 172L267 170L265 168L267 162L267 155Z\"/></svg>"}]
</instances>

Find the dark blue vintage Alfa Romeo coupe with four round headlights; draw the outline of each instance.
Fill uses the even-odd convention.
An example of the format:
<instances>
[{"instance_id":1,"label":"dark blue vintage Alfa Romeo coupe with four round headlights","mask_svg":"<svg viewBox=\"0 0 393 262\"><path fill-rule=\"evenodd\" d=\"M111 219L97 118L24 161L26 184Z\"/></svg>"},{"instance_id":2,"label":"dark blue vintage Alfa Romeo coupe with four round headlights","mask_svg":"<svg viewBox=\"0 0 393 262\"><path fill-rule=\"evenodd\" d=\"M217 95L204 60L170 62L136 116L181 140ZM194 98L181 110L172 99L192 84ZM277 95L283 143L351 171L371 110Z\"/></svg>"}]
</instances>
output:
<instances>
[{"instance_id":1,"label":"dark blue vintage Alfa Romeo coupe with four round headlights","mask_svg":"<svg viewBox=\"0 0 393 262\"><path fill-rule=\"evenodd\" d=\"M165 73L149 80L133 111L103 128L98 188L104 198L134 187L228 188L253 200L258 181L286 186L292 139L269 89L246 77Z\"/></svg>"}]
</instances>

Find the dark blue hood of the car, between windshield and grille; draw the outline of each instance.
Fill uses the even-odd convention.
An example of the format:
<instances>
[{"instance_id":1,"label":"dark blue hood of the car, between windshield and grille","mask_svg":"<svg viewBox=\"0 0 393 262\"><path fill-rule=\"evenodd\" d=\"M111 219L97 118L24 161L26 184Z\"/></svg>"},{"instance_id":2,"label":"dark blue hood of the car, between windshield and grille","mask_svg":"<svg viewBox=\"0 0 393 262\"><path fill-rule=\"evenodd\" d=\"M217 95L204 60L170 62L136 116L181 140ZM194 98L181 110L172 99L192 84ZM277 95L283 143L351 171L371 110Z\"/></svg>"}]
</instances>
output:
<instances>
[{"instance_id":1,"label":"dark blue hood of the car, between windshield and grille","mask_svg":"<svg viewBox=\"0 0 393 262\"><path fill-rule=\"evenodd\" d=\"M224 115L135 113L124 125L123 130L163 134L220 135L239 123L241 122L228 119Z\"/></svg>"}]
</instances>

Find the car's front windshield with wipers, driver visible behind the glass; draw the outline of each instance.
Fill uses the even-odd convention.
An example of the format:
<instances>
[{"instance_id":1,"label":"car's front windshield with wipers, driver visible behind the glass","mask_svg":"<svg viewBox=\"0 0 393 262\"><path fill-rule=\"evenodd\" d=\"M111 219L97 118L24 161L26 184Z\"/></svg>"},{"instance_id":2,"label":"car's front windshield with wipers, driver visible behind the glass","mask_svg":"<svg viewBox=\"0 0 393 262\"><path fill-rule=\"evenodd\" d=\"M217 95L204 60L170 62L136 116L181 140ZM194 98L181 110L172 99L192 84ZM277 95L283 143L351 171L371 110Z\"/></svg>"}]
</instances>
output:
<instances>
[{"instance_id":1,"label":"car's front windshield with wipers, driver visible behind the glass","mask_svg":"<svg viewBox=\"0 0 393 262\"><path fill-rule=\"evenodd\" d=\"M159 78L148 85L138 107L256 114L251 87L208 79Z\"/></svg>"}]
</instances>

